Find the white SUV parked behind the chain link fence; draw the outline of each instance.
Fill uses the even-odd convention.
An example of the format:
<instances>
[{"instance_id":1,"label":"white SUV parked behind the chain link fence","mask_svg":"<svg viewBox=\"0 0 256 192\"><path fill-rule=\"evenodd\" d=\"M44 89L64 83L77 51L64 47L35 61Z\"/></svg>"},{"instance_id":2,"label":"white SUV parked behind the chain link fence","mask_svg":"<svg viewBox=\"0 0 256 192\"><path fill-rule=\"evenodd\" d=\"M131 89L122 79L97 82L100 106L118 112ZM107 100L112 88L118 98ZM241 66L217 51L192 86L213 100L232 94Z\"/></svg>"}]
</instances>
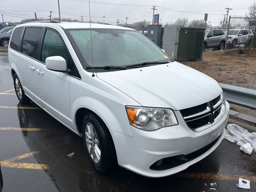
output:
<instances>
[{"instance_id":1,"label":"white SUV parked behind the chain link fence","mask_svg":"<svg viewBox=\"0 0 256 192\"><path fill-rule=\"evenodd\" d=\"M246 44L252 36L252 31L248 29L230 29L227 42L232 47L235 47L238 44Z\"/></svg>"}]
</instances>

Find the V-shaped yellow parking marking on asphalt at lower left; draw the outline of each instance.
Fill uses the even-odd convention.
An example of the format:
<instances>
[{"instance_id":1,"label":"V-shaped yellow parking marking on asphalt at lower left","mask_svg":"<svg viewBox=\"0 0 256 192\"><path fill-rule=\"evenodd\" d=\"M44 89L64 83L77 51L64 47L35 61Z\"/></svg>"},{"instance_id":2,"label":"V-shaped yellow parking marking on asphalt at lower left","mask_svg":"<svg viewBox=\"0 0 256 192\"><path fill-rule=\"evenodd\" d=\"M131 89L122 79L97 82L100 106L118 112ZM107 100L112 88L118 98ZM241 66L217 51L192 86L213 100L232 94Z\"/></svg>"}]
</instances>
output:
<instances>
[{"instance_id":1,"label":"V-shaped yellow parking marking on asphalt at lower left","mask_svg":"<svg viewBox=\"0 0 256 192\"><path fill-rule=\"evenodd\" d=\"M33 151L30 153L22 154L13 158L9 158L8 160L1 161L1 166L8 168L23 168L23 169L37 169L37 170L48 170L49 166L46 164L34 164L34 163L16 163L14 161L27 158L29 156L33 156L34 154L38 154L38 151Z\"/></svg>"}]
</instances>

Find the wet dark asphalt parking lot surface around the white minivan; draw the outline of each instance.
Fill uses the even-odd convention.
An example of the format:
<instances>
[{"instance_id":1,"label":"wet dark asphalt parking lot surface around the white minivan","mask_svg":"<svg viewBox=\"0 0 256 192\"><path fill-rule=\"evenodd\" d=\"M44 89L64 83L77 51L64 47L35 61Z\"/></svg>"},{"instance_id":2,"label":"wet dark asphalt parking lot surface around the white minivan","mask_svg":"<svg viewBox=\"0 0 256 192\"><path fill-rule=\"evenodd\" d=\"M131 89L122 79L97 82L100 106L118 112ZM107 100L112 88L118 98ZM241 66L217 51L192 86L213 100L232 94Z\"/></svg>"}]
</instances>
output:
<instances>
[{"instance_id":1,"label":"wet dark asphalt parking lot surface around the white minivan","mask_svg":"<svg viewBox=\"0 0 256 192\"><path fill-rule=\"evenodd\" d=\"M8 54L0 52L0 92L13 88ZM250 191L256 191L256 154L244 154L225 139L205 159L172 176L146 178L120 167L99 174L90 167L82 138L36 104L24 106L14 91L7 93L0 94L3 192L248 191L237 188L239 177L249 179Z\"/></svg>"}]
</instances>

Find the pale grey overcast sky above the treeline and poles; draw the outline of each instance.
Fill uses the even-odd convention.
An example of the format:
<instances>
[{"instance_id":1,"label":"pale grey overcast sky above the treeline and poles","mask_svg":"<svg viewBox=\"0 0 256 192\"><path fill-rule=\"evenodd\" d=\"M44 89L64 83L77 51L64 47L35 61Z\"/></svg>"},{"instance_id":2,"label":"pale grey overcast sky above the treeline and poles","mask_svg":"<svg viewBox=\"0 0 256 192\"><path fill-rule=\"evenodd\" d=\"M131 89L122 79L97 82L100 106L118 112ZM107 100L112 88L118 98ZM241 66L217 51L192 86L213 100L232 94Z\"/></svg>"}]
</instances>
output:
<instances>
[{"instance_id":1,"label":"pale grey overcast sky above the treeline and poles","mask_svg":"<svg viewBox=\"0 0 256 192\"><path fill-rule=\"evenodd\" d=\"M208 13L208 21L213 26L218 26L224 19L222 14L226 14L224 8L228 6L233 8L230 10L231 15L244 16L255 0L91 0L90 2L92 21L102 22L102 16L106 16L105 22L111 24L116 24L116 19L125 22L126 16L129 17L128 23L152 21L151 8L155 5L158 9L155 10L155 14L160 14L162 24L184 17L188 18L188 21L204 19L204 13ZM0 0L0 5L0 14L4 14L5 22L32 18L34 12L38 17L48 18L52 11L52 17L58 17L58 0ZM60 0L60 12L61 18L81 19L83 16L83 20L89 20L87 0L84 2Z\"/></svg>"}]
</instances>

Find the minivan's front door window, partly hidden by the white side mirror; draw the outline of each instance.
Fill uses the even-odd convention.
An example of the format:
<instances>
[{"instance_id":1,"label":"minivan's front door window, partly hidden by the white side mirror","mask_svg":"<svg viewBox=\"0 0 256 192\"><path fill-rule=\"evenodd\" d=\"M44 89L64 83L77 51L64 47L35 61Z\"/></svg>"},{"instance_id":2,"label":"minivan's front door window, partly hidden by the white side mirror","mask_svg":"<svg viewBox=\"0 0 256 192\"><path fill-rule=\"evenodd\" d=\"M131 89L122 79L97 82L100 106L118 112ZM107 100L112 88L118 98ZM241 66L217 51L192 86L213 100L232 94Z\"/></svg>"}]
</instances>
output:
<instances>
[{"instance_id":1,"label":"minivan's front door window, partly hidden by the white side mirror","mask_svg":"<svg viewBox=\"0 0 256 192\"><path fill-rule=\"evenodd\" d=\"M72 59L70 58L60 36L52 30L46 30L41 61L45 63L46 58L51 56L62 56L66 60L68 68L72 68Z\"/></svg>"}]
</instances>

